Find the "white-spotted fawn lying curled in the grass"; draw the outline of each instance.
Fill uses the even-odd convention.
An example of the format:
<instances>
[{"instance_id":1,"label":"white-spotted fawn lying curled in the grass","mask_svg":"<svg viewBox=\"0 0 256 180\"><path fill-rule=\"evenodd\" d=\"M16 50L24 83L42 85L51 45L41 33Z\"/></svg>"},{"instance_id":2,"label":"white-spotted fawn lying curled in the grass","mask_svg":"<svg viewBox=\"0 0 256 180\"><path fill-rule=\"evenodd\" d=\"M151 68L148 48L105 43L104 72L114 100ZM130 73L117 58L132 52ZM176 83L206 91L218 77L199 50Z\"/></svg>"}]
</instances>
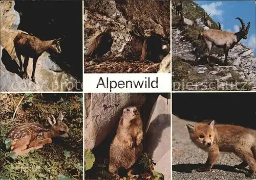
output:
<instances>
[{"instance_id":1,"label":"white-spotted fawn lying curled in the grass","mask_svg":"<svg viewBox=\"0 0 256 180\"><path fill-rule=\"evenodd\" d=\"M17 155L23 155L30 150L39 149L45 144L52 143L52 137L69 137L68 126L62 122L63 116L60 111L57 120L53 115L48 117L50 128L39 123L23 123L11 129L8 136L12 139L11 150Z\"/></svg>"}]
</instances>

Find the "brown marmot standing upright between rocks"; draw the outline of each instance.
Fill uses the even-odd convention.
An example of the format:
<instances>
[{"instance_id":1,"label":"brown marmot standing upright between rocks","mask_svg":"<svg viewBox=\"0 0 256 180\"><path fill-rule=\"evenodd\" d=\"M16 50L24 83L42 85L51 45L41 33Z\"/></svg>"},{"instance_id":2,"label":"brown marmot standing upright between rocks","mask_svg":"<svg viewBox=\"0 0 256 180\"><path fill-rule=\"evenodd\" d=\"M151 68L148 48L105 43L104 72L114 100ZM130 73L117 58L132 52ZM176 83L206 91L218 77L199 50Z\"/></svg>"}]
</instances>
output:
<instances>
[{"instance_id":1,"label":"brown marmot standing upright between rocks","mask_svg":"<svg viewBox=\"0 0 256 180\"><path fill-rule=\"evenodd\" d=\"M124 168L129 177L138 177L132 174L131 167L142 154L142 139L142 120L138 108L135 106L124 108L116 136L110 145L111 173L118 175L118 169Z\"/></svg>"}]
</instances>

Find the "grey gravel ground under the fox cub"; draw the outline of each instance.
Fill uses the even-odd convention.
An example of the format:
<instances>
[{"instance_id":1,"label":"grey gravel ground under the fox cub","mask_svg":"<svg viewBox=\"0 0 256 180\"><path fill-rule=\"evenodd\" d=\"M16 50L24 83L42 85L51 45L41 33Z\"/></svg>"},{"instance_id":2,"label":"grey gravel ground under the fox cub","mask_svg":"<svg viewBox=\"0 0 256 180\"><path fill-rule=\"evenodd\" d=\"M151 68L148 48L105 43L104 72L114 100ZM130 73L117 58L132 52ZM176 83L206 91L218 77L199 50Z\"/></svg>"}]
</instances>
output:
<instances>
[{"instance_id":1,"label":"grey gravel ground under the fox cub","mask_svg":"<svg viewBox=\"0 0 256 180\"><path fill-rule=\"evenodd\" d=\"M242 160L233 153L221 152L215 166L207 172L197 172L200 164L207 159L207 152L198 148L189 139L186 124L196 124L173 115L173 180L244 180L256 179L245 177L247 169L235 169L232 166L240 164Z\"/></svg>"}]
</instances>

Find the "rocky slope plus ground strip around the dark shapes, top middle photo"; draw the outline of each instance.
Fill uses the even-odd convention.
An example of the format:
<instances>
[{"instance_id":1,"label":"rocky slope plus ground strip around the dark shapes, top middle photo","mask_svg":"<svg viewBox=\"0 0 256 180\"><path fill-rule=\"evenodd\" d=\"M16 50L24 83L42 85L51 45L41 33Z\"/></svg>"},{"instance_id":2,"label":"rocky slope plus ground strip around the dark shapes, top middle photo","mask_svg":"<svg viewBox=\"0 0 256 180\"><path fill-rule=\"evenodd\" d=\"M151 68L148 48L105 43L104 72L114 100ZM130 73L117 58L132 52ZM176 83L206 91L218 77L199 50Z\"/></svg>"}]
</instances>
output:
<instances>
[{"instance_id":1,"label":"rocky slope plus ground strip around the dark shapes, top middle photo","mask_svg":"<svg viewBox=\"0 0 256 180\"><path fill-rule=\"evenodd\" d=\"M163 37L169 52L169 2L157 1L85 1L84 52L97 35L111 29L111 51L103 58L85 58L84 72L157 72L159 63L140 62L145 30ZM132 36L134 31L138 36ZM162 60L163 57L160 57ZM93 61L91 61L93 60Z\"/></svg>"}]
</instances>

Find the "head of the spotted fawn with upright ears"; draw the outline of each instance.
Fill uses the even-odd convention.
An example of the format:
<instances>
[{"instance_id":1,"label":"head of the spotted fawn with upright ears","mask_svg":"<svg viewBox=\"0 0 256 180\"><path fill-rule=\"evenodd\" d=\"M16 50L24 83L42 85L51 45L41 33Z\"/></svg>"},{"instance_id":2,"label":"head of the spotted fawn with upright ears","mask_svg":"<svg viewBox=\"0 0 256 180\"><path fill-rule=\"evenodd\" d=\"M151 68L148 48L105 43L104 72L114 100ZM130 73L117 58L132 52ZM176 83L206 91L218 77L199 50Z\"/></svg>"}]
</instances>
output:
<instances>
[{"instance_id":1,"label":"head of the spotted fawn with upright ears","mask_svg":"<svg viewBox=\"0 0 256 180\"><path fill-rule=\"evenodd\" d=\"M63 115L61 111L59 112L57 120L53 115L51 115L51 117L48 117L48 122L51 124L50 131L52 132L53 137L69 137L69 128L64 122L62 122L62 119Z\"/></svg>"}]
</instances>

